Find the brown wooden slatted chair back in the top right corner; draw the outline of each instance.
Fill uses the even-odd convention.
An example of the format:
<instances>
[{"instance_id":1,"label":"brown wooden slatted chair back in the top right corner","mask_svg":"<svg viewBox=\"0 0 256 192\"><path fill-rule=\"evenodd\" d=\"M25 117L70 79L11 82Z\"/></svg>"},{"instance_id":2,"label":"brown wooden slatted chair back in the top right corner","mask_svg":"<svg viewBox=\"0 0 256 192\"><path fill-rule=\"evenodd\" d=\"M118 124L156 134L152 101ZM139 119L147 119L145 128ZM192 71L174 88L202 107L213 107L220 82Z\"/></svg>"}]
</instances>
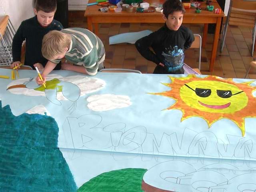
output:
<instances>
[{"instance_id":1,"label":"brown wooden slatted chair back in the top right corner","mask_svg":"<svg viewBox=\"0 0 256 192\"><path fill-rule=\"evenodd\" d=\"M256 2L231 0L229 25L254 27L256 20Z\"/></svg>"}]
</instances>

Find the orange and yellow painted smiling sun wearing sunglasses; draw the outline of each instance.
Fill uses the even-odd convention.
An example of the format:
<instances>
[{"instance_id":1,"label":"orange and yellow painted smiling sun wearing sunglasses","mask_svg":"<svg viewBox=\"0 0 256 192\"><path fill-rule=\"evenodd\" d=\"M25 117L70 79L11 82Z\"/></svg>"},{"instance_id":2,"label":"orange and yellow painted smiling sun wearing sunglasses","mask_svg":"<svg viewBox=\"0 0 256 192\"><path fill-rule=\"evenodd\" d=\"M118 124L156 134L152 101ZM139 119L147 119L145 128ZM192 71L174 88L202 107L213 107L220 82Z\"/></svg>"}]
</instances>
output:
<instances>
[{"instance_id":1,"label":"orange and yellow painted smiling sun wearing sunglasses","mask_svg":"<svg viewBox=\"0 0 256 192\"><path fill-rule=\"evenodd\" d=\"M174 99L176 102L166 110L181 110L181 121L198 116L204 118L210 128L214 122L226 118L232 120L244 136L245 118L256 118L256 98L252 94L256 88L250 86L254 81L235 83L231 78L195 75L169 78L171 83L162 84L171 90L151 94Z\"/></svg>"}]
</instances>

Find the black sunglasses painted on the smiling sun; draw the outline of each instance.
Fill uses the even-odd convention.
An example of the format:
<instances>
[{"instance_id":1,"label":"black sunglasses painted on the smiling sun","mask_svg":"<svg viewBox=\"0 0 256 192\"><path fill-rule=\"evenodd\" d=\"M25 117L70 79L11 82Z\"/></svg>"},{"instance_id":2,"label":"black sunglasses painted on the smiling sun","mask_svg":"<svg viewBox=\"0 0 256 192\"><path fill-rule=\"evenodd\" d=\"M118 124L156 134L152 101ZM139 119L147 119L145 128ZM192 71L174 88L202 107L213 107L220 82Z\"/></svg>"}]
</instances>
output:
<instances>
[{"instance_id":1,"label":"black sunglasses painted on the smiling sun","mask_svg":"<svg viewBox=\"0 0 256 192\"><path fill-rule=\"evenodd\" d=\"M194 90L190 86L188 86L187 84L185 84L185 86L190 88L191 90L193 90L196 93L196 95L200 96L200 97L208 97L212 93L212 90L210 90L210 89L196 88L196 90ZM242 92L243 91L232 94L232 91L230 91L230 90L217 90L217 95L221 98L230 98L231 96L240 94Z\"/></svg>"}]
</instances>

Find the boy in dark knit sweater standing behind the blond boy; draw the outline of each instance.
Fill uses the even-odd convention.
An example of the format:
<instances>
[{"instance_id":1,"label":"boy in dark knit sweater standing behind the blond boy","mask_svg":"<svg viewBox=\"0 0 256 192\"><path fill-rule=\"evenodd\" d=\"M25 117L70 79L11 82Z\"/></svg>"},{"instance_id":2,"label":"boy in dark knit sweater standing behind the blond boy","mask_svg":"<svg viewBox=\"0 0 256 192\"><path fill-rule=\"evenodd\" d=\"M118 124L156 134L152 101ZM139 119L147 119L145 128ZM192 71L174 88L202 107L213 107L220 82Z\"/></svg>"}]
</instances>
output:
<instances>
[{"instance_id":1,"label":"boy in dark knit sweater standing behind the blond boy","mask_svg":"<svg viewBox=\"0 0 256 192\"><path fill-rule=\"evenodd\" d=\"M54 20L54 14L57 9L56 0L36 0L34 4L34 13L36 16L24 20L14 35L12 42L13 63L11 68L19 67L22 42L26 40L25 65L38 67L43 70L47 63L46 58L42 56L42 39L46 33L51 30L62 30L60 22ZM55 69L60 69L60 64Z\"/></svg>"}]
</instances>

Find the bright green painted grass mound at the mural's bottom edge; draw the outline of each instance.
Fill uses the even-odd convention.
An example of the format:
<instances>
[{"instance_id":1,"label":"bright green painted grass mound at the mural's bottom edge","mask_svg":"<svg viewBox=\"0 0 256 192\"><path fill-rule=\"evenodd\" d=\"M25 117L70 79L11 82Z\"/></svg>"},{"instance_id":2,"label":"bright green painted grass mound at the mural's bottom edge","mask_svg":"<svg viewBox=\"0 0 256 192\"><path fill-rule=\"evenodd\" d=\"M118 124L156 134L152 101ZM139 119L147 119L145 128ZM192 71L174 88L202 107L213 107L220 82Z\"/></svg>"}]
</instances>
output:
<instances>
[{"instance_id":1,"label":"bright green painted grass mound at the mural's bottom edge","mask_svg":"<svg viewBox=\"0 0 256 192\"><path fill-rule=\"evenodd\" d=\"M102 173L83 184L78 192L143 192L141 184L146 171L128 168Z\"/></svg>"}]
</instances>

